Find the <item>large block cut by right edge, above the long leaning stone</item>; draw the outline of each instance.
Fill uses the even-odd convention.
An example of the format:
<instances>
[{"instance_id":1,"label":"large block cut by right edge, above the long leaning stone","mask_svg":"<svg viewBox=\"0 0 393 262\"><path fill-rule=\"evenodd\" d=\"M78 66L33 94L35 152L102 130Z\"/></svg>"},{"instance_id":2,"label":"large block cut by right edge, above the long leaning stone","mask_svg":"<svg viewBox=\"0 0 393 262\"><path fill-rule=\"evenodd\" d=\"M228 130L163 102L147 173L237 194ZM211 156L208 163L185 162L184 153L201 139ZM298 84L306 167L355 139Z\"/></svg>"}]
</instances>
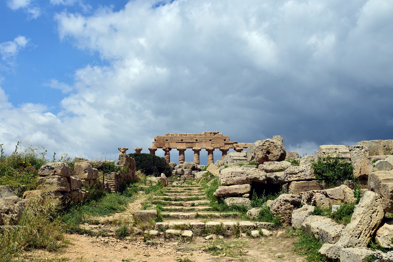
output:
<instances>
[{"instance_id":1,"label":"large block cut by right edge, above the long leaning stone","mask_svg":"<svg viewBox=\"0 0 393 262\"><path fill-rule=\"evenodd\" d=\"M393 212L393 170L371 172L367 186L382 196L385 212Z\"/></svg>"}]
</instances>

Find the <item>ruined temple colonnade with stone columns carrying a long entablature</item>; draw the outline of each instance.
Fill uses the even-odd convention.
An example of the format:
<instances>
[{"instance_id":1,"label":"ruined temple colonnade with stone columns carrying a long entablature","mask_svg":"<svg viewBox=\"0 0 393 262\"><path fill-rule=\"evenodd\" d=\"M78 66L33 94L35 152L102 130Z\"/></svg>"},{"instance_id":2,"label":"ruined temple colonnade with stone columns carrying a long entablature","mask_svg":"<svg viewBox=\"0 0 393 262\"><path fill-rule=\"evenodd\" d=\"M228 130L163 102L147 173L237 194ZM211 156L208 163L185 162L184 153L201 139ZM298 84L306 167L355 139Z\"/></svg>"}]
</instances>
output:
<instances>
[{"instance_id":1,"label":"ruined temple colonnade with stone columns carrying a long entablature","mask_svg":"<svg viewBox=\"0 0 393 262\"><path fill-rule=\"evenodd\" d=\"M236 152L241 152L248 148L251 143L238 143L231 141L229 136L223 136L218 131L203 133L166 133L164 136L155 136L152 147L149 148L150 154L155 155L158 148L165 151L164 158L169 163L171 161L170 151L176 148L179 151L179 164L184 163L184 152L187 148L194 151L194 162L200 164L199 153L202 149L208 151L208 164L214 162L213 151L218 148L222 152L222 160L229 149L233 148ZM141 148L135 148L140 152Z\"/></svg>"}]
</instances>

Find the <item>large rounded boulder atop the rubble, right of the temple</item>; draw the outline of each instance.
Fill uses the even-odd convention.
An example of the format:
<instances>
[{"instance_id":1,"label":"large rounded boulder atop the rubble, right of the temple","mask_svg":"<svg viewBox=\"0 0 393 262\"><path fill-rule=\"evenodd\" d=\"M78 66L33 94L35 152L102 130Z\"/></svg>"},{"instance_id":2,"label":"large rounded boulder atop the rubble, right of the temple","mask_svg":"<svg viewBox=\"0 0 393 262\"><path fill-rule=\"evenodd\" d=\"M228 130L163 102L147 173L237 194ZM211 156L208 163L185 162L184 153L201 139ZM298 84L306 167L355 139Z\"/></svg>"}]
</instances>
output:
<instances>
[{"instance_id":1,"label":"large rounded boulder atop the rubble, right of the temple","mask_svg":"<svg viewBox=\"0 0 393 262\"><path fill-rule=\"evenodd\" d=\"M247 149L247 162L252 160L263 164L268 161L284 161L286 152L281 136L258 140Z\"/></svg>"}]
</instances>

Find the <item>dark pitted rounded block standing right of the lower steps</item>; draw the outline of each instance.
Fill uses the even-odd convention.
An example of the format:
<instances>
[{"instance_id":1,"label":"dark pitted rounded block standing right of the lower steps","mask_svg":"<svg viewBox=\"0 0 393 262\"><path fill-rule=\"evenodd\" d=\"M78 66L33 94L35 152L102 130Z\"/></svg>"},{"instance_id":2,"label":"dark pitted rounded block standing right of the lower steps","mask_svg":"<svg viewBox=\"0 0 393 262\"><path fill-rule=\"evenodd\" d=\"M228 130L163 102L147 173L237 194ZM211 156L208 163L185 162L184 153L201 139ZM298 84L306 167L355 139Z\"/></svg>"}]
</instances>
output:
<instances>
[{"instance_id":1,"label":"dark pitted rounded block standing right of the lower steps","mask_svg":"<svg viewBox=\"0 0 393 262\"><path fill-rule=\"evenodd\" d=\"M290 224L292 221L293 210L299 208L301 198L299 195L282 194L270 205L273 214L280 214L281 223Z\"/></svg>"}]
</instances>

